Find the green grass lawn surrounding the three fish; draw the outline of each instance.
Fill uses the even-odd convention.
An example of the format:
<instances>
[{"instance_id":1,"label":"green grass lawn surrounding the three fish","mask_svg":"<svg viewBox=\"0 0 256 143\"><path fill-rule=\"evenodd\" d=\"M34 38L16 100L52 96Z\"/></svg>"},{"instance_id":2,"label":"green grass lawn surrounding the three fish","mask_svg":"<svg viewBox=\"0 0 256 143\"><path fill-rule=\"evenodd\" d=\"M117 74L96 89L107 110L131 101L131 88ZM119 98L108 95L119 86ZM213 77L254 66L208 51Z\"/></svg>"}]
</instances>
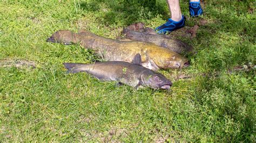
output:
<instances>
[{"instance_id":1,"label":"green grass lawn surrounding the three fish","mask_svg":"<svg viewBox=\"0 0 256 143\"><path fill-rule=\"evenodd\" d=\"M198 51L183 69L191 78L161 70L172 91L153 92L65 74L63 62L99 59L46 39L62 29L116 38L132 23L156 27L169 16L164 0L1 1L0 60L36 68L0 67L0 141L255 142L255 2L205 1L199 18L180 4L186 26L200 26L196 38L179 37ZM252 68L235 70L244 65Z\"/></svg>"}]
</instances>

